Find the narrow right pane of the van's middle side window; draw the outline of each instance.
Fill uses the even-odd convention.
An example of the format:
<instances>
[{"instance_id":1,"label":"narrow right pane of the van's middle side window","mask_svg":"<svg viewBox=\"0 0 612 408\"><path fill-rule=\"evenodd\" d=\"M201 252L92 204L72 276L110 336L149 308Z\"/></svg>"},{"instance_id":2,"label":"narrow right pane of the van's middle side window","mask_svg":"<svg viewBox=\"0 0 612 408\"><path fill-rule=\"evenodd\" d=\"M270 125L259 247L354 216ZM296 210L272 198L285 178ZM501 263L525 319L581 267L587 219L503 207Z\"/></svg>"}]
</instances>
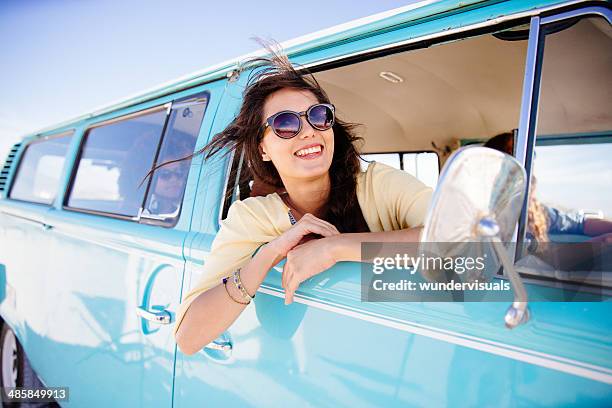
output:
<instances>
[{"instance_id":1,"label":"narrow right pane of the van's middle side window","mask_svg":"<svg viewBox=\"0 0 612 408\"><path fill-rule=\"evenodd\" d=\"M187 106L178 104L177 108L172 109L158 164L182 159L193 153L205 109L206 99ZM186 159L155 170L145 205L145 218L147 214L154 214L159 216L156 218L163 218L160 221L165 224L173 224L181 208L190 166L191 159Z\"/></svg>"}]
</instances>

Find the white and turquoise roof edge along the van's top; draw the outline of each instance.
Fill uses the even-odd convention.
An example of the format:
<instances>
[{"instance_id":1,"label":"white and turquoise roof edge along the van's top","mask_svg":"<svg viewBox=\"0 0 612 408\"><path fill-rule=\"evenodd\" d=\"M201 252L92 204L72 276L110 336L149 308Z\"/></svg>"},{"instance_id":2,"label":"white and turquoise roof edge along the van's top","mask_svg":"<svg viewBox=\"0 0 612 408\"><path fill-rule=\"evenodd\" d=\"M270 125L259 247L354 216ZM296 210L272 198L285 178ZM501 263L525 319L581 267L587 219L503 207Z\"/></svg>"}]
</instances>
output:
<instances>
[{"instance_id":1,"label":"white and turquoise roof edge along the van's top","mask_svg":"<svg viewBox=\"0 0 612 408\"><path fill-rule=\"evenodd\" d=\"M456 12L460 9L481 8L486 5L504 3L504 6L506 7L503 9L503 13L499 13L499 15L507 15L555 4L574 4L581 3L583 1L585 0L540 0L528 4L526 2L513 2L508 0L423 0L306 34L292 40L284 41L280 45L285 53L291 57L295 56L296 54L299 55L301 52L307 49L321 49L340 41L346 41L347 38L360 38L376 32L394 30L423 18L439 18L447 15L449 12ZM496 17L498 16L490 15L487 16L487 19L490 20ZM106 114L134 104L146 102L148 100L201 85L215 79L223 78L236 69L240 61L264 54L265 50L260 49L237 58L223 61L202 70L159 84L153 88L146 89L136 94L121 98L120 100L105 104L77 117L62 121L61 123L47 126L36 132L28 133L24 136L24 139L28 138L28 136L33 137L53 133L70 126L74 126L78 122L90 119L92 117Z\"/></svg>"}]
</instances>

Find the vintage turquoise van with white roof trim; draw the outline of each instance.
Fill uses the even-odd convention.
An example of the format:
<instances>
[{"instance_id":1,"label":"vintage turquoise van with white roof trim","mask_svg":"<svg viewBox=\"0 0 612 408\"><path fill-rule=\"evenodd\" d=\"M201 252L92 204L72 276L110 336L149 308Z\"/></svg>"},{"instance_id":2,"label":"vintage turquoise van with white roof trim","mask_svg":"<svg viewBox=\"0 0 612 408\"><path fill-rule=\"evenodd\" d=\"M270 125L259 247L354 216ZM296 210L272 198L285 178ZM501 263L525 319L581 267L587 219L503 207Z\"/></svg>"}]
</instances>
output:
<instances>
[{"instance_id":1,"label":"vintage turquoise van with white roof trim","mask_svg":"<svg viewBox=\"0 0 612 408\"><path fill-rule=\"evenodd\" d=\"M364 124L364 159L435 187L459 146L514 132L541 202L609 219L611 22L608 2L423 1L284 47ZM241 60L13 146L0 174L3 387L67 387L66 407L612 405L610 280L537 267L519 270L530 297L602 301L532 302L508 329L507 302L363 302L360 264L340 263L285 306L277 266L220 338L178 350L181 296L250 183L240 152L143 177L232 120ZM525 203L519 242L529 222ZM570 235L589 238L550 239Z\"/></svg>"}]
</instances>

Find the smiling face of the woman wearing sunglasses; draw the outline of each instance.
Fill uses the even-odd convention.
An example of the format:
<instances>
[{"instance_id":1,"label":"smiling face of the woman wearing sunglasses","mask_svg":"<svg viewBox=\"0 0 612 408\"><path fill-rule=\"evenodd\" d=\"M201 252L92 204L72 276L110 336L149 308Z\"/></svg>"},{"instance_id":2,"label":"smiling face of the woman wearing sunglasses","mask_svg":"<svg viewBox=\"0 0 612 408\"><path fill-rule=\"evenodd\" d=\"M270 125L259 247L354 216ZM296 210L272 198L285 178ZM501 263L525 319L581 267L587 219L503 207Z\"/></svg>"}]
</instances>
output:
<instances>
[{"instance_id":1,"label":"smiling face of the woman wearing sunglasses","mask_svg":"<svg viewBox=\"0 0 612 408\"><path fill-rule=\"evenodd\" d=\"M266 99L263 110L264 121L283 110L304 112L319 103L310 91L285 88L274 92ZM301 117L302 129L292 139L278 137L267 127L259 144L264 161L272 161L283 183L291 179L316 179L326 175L334 156L334 131L317 130L310 126L305 116ZM262 123L263 125L263 123ZM320 146L321 153L300 157L297 153L304 148Z\"/></svg>"}]
</instances>

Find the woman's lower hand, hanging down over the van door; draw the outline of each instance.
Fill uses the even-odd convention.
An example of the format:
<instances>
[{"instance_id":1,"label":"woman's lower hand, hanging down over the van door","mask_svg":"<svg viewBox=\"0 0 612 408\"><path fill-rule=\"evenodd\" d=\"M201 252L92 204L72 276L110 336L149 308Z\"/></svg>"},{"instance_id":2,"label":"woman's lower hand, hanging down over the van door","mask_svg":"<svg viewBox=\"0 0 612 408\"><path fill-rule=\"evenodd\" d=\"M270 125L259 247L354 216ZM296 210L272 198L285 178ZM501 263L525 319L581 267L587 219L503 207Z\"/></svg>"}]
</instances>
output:
<instances>
[{"instance_id":1,"label":"woman's lower hand, hanging down over the van door","mask_svg":"<svg viewBox=\"0 0 612 408\"><path fill-rule=\"evenodd\" d=\"M282 278L286 305L293 302L293 294L302 282L336 264L331 248L334 243L335 240L328 238L315 239L287 253Z\"/></svg>"}]
</instances>

